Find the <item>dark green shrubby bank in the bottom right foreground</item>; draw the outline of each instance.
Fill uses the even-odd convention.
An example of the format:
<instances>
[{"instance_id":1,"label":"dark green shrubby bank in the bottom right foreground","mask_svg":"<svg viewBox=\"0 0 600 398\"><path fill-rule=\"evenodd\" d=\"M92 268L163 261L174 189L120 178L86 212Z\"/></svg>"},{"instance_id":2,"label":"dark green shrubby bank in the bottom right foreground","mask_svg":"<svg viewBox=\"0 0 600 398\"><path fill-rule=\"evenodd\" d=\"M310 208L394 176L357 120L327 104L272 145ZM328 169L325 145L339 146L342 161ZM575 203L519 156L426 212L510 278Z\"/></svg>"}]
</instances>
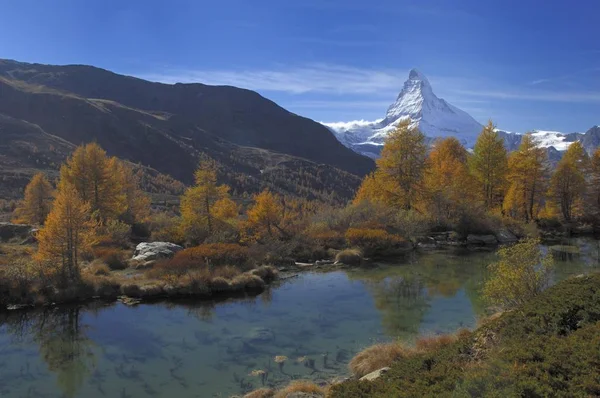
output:
<instances>
[{"instance_id":1,"label":"dark green shrubby bank in the bottom right foreground","mask_svg":"<svg viewBox=\"0 0 600 398\"><path fill-rule=\"evenodd\" d=\"M401 351L391 352L391 369L379 379L349 380L333 386L328 395L599 396L600 275L561 282L444 344L408 355ZM356 366L367 359L353 361Z\"/></svg>"}]
</instances>

